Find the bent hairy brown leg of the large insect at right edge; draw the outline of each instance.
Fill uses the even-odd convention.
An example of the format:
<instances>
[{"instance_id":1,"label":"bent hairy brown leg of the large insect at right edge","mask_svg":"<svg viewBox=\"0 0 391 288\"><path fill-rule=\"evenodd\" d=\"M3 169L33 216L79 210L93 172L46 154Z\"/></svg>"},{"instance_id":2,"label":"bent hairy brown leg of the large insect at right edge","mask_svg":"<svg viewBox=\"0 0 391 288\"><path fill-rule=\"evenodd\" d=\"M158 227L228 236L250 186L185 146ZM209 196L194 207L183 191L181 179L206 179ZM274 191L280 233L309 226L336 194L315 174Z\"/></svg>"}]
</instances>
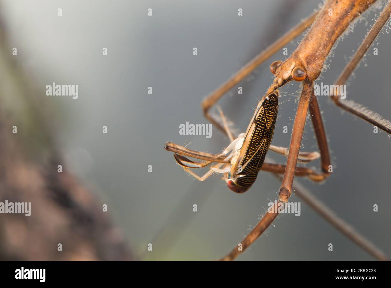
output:
<instances>
[{"instance_id":1,"label":"bent hairy brown leg of the large insect at right edge","mask_svg":"<svg viewBox=\"0 0 391 288\"><path fill-rule=\"evenodd\" d=\"M369 47L372 45L373 41L377 37L378 33L382 30L384 24L386 24L389 16L391 14L391 1L388 2L386 7L383 9L379 18L376 20L376 23L373 25L368 35L365 37L364 41L361 43L359 49L354 54L353 58L350 60L348 65L346 65L345 69L342 71L341 75L339 75L338 79L335 81L335 85L343 85L350 74L352 74L353 70L357 66L357 64L361 61L364 54L368 51ZM382 118L376 112L369 110L366 107L363 107L361 104L355 103L353 100L343 100L340 99L339 95L332 95L332 100L335 105L338 107L354 114L355 116L376 125L380 129L385 132L391 134L391 123L389 120Z\"/></svg>"}]
</instances>

